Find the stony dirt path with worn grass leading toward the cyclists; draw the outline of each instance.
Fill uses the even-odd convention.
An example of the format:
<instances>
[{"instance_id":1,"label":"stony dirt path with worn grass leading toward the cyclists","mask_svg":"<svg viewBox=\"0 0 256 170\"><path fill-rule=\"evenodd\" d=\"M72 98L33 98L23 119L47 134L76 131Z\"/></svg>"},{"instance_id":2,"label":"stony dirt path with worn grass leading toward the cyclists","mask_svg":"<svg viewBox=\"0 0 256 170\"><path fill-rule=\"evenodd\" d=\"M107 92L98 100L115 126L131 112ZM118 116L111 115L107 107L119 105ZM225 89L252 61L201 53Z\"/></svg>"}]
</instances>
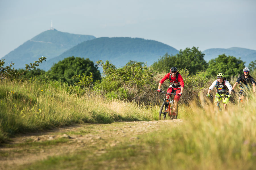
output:
<instances>
[{"instance_id":1,"label":"stony dirt path with worn grass leading toward the cyclists","mask_svg":"<svg viewBox=\"0 0 256 170\"><path fill-rule=\"evenodd\" d=\"M182 120L79 124L15 137L0 148L0 169L14 169L49 156L72 154L83 148L92 148L93 154L99 155L105 152L106 146L115 147L123 141L138 140L140 134L176 126L180 122Z\"/></svg>"}]
</instances>

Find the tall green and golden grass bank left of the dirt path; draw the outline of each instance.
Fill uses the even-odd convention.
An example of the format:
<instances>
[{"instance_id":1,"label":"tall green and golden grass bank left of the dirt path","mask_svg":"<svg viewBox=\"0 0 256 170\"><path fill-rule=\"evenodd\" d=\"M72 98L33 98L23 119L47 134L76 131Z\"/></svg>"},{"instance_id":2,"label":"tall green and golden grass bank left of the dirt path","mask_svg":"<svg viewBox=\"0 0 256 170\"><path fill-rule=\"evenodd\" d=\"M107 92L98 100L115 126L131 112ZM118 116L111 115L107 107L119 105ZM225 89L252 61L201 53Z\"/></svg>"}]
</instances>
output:
<instances>
[{"instance_id":1,"label":"tall green and golden grass bank left of the dirt path","mask_svg":"<svg viewBox=\"0 0 256 170\"><path fill-rule=\"evenodd\" d=\"M77 86L57 81L2 81L0 86L0 143L15 133L73 123L156 118L146 107L106 100L100 95L86 95Z\"/></svg>"}]
</instances>

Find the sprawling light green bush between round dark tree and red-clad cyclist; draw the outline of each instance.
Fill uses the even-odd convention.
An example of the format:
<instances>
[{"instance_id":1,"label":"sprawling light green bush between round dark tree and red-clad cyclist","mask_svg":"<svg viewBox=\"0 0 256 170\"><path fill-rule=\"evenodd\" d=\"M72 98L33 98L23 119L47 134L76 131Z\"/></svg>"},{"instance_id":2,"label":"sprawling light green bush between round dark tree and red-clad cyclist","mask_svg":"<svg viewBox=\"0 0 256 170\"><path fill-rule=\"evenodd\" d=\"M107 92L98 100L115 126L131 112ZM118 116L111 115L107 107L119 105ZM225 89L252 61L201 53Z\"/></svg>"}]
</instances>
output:
<instances>
[{"instance_id":1,"label":"sprawling light green bush between round dark tree and red-clad cyclist","mask_svg":"<svg viewBox=\"0 0 256 170\"><path fill-rule=\"evenodd\" d=\"M148 103L149 94L156 94L154 72L140 62L129 62L122 68L106 61L98 61L103 68L103 81L94 90L104 92L107 98Z\"/></svg>"}]
</instances>

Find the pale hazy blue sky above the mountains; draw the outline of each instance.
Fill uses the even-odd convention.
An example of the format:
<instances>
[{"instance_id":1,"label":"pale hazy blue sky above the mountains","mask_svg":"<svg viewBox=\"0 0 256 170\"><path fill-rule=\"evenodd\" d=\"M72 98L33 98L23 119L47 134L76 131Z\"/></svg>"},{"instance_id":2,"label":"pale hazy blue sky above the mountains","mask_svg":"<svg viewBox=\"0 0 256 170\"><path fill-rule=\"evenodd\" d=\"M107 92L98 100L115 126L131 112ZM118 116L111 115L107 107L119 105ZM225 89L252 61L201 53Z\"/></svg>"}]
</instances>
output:
<instances>
[{"instance_id":1,"label":"pale hazy blue sky above the mountains","mask_svg":"<svg viewBox=\"0 0 256 170\"><path fill-rule=\"evenodd\" d=\"M0 0L0 58L53 27L186 47L256 50L255 0Z\"/></svg>"}]
</instances>

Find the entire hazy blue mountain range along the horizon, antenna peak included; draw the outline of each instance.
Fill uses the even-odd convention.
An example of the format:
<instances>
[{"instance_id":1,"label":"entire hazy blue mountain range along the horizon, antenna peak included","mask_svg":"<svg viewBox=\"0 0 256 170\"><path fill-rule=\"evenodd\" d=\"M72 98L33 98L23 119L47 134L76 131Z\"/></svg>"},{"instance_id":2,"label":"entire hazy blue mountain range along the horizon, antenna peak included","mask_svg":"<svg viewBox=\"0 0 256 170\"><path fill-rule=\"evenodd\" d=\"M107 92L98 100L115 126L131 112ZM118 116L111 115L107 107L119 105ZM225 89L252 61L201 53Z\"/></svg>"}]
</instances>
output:
<instances>
[{"instance_id":1,"label":"entire hazy blue mountain range along the horizon, antenna peak included","mask_svg":"<svg viewBox=\"0 0 256 170\"><path fill-rule=\"evenodd\" d=\"M151 65L166 53L175 55L178 52L172 46L154 40L129 37L96 38L92 35L70 34L53 29L24 42L2 59L5 59L6 64L15 63L16 69L24 69L25 64L33 63L45 56L46 62L44 61L38 68L48 71L53 63L69 56L89 58L94 62L110 60L116 67L122 67L130 60ZM245 65L256 60L256 50L239 47L210 48L202 53L205 54L204 59L207 62L221 54L241 58L246 61Z\"/></svg>"}]
</instances>

